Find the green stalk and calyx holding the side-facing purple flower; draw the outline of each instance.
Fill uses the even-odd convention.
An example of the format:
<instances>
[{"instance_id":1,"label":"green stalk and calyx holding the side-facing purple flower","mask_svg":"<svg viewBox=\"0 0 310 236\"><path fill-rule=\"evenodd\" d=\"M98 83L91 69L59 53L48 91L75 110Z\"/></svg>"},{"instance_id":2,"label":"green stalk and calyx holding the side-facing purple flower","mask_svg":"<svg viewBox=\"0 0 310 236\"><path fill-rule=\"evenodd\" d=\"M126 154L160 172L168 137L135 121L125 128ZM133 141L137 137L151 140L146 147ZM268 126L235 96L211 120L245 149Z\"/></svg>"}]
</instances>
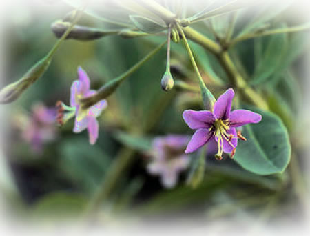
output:
<instances>
[{"instance_id":1,"label":"green stalk and calyx holding the side-facing purple flower","mask_svg":"<svg viewBox=\"0 0 310 236\"><path fill-rule=\"evenodd\" d=\"M156 53L161 50L161 48L163 48L165 44L166 41L164 43L161 43L161 45L157 46L154 50L152 50L152 52L149 52L149 54L143 57L141 61L138 61L138 63L136 63L134 66L132 66L132 68L124 72L122 75L105 83L105 85L102 86L95 95L81 99L81 102L83 103L83 108L89 108L90 106L96 104L98 101L101 101L102 99L105 99L106 97L111 95L116 90L116 88L118 88L118 86L120 86L121 83L125 81L125 79L127 79L127 77L130 77L130 75L132 75L132 73L138 70L138 68L143 66L145 62L147 62L154 55L156 55Z\"/></svg>"}]
</instances>

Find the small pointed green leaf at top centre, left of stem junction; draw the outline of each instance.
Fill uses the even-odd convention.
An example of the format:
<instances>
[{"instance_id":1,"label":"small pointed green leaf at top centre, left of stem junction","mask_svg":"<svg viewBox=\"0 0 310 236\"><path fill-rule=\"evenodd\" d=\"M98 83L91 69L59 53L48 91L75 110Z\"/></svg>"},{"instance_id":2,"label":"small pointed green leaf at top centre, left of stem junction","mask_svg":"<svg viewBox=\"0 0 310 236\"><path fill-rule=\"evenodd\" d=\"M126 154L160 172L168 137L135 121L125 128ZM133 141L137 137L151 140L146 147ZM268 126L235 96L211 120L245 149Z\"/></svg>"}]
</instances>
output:
<instances>
[{"instance_id":1,"label":"small pointed green leaf at top centre, left of stem junction","mask_svg":"<svg viewBox=\"0 0 310 236\"><path fill-rule=\"evenodd\" d=\"M156 34L167 28L164 21L155 22L152 19L138 15L130 15L130 19L136 28L149 34Z\"/></svg>"}]
</instances>

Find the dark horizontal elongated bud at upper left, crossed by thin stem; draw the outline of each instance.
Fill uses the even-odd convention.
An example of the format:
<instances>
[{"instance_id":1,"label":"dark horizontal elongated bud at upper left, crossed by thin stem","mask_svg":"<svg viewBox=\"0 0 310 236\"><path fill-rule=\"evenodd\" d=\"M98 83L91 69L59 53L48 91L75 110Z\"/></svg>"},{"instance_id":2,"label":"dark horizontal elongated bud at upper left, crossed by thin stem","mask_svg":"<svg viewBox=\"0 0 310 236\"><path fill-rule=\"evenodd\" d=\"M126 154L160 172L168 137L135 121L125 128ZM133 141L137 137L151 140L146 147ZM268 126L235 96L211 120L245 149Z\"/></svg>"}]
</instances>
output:
<instances>
[{"instance_id":1,"label":"dark horizontal elongated bud at upper left, crossed by thin stem","mask_svg":"<svg viewBox=\"0 0 310 236\"><path fill-rule=\"evenodd\" d=\"M71 26L70 22L55 21L52 23L52 31L57 38L60 38L66 30ZM94 39L100 39L107 35L115 35L118 31L105 31L98 28L92 28L87 26L74 26L65 39L76 39L81 41L89 41Z\"/></svg>"}]
</instances>

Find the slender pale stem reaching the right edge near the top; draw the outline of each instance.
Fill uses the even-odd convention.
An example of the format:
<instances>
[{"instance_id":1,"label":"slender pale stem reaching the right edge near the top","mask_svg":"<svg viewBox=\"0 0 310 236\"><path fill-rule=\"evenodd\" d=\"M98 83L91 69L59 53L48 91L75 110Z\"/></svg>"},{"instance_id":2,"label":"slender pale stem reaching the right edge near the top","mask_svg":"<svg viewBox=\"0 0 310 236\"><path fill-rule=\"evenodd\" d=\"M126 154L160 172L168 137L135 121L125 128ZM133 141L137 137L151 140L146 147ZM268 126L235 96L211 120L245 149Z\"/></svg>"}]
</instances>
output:
<instances>
[{"instance_id":1,"label":"slender pale stem reaching the right edge near the top","mask_svg":"<svg viewBox=\"0 0 310 236\"><path fill-rule=\"evenodd\" d=\"M234 46L236 43L239 43L240 41L244 41L247 39L252 39L254 37L262 37L266 35L276 35L276 34L283 34L283 33L288 33L288 32L298 32L302 30L309 30L310 24L304 24L302 26L294 26L294 27L289 27L289 28L279 28L279 29L273 29L273 30L265 30L262 32L254 32L248 35L242 35L240 37L236 37L231 41L229 46Z\"/></svg>"}]
</instances>

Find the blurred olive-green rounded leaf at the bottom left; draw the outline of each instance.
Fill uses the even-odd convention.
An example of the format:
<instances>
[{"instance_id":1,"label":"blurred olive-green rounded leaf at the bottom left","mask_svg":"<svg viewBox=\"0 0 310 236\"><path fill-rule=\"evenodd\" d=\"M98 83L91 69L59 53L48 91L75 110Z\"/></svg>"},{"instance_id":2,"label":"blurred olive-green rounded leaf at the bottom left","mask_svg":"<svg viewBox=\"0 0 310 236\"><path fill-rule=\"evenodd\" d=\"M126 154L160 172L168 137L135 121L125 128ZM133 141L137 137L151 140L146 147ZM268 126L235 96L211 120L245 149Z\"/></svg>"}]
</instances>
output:
<instances>
[{"instance_id":1,"label":"blurred olive-green rounded leaf at the bottom left","mask_svg":"<svg viewBox=\"0 0 310 236\"><path fill-rule=\"evenodd\" d=\"M86 199L76 193L50 193L37 201L32 214L34 217L55 219L76 217L82 213L86 204Z\"/></svg>"}]
</instances>

